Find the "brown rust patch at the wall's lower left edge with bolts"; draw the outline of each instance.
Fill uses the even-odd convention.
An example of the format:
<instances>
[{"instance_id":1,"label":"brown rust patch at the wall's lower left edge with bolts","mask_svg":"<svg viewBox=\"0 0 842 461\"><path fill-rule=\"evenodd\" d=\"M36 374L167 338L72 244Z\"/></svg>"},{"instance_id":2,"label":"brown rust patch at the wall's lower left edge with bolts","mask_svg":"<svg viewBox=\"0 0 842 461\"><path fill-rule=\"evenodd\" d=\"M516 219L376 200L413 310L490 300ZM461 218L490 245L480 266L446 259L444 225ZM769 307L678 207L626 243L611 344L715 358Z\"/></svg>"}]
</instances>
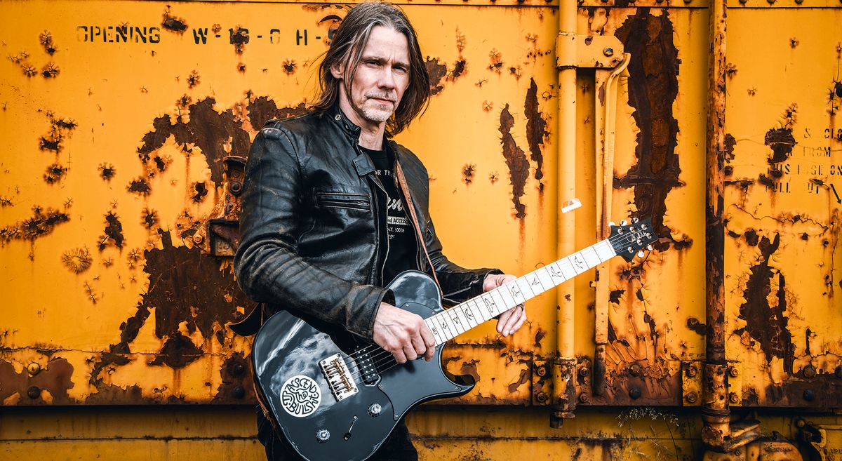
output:
<instances>
[{"instance_id":1,"label":"brown rust patch at the wall's lower left edge with bolts","mask_svg":"<svg viewBox=\"0 0 842 461\"><path fill-rule=\"evenodd\" d=\"M52 396L53 405L75 403L67 395L67 390L73 387L72 375L73 366L66 358L51 359L35 376L29 375L25 368L21 373L16 373L12 363L0 361L0 383L3 383L3 386L0 386L0 401L19 394L19 405L45 405L41 390L47 390ZM39 395L35 398L27 395L27 391L32 387L39 390Z\"/></svg>"}]
</instances>

